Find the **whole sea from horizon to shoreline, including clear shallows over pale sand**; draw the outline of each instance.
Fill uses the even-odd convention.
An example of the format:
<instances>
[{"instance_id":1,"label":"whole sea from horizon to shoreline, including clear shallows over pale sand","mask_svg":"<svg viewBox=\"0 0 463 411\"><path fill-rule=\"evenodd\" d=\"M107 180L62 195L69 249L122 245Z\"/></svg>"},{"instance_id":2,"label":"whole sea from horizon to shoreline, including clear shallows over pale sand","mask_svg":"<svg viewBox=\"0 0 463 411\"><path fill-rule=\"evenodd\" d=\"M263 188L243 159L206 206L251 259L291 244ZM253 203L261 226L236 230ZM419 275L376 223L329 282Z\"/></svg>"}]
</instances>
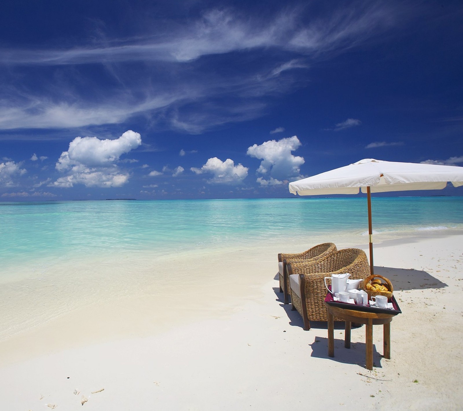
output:
<instances>
[{"instance_id":1,"label":"whole sea from horizon to shoreline, including clear shallows over pale sand","mask_svg":"<svg viewBox=\"0 0 463 411\"><path fill-rule=\"evenodd\" d=\"M377 244L463 229L463 197L374 197L372 208ZM0 202L0 341L90 321L88 310L120 318L111 332L134 320L145 330L171 321L173 299L202 315L214 299L246 299L256 275L272 279L278 252L367 249L367 233L365 197Z\"/></svg>"}]
</instances>

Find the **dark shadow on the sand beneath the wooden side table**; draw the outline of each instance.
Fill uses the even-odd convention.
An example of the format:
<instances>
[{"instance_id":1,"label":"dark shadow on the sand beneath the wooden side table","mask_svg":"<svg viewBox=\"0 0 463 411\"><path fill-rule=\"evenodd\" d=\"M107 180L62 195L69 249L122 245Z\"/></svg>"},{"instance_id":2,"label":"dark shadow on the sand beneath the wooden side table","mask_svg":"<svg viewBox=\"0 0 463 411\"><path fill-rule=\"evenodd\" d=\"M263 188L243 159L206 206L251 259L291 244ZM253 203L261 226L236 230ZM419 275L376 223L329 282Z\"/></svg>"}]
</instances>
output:
<instances>
[{"instance_id":1,"label":"dark shadow on the sand beneath the wooden side table","mask_svg":"<svg viewBox=\"0 0 463 411\"><path fill-rule=\"evenodd\" d=\"M344 324L344 323L343 323ZM357 364L360 367L365 367L366 364L366 347L364 342L350 342L350 349L344 347L343 338L334 339L334 357L328 356L328 338L316 336L312 344L311 357L325 358L343 364ZM376 351L376 346L373 345L373 367L382 368L381 360L383 356Z\"/></svg>"}]
</instances>

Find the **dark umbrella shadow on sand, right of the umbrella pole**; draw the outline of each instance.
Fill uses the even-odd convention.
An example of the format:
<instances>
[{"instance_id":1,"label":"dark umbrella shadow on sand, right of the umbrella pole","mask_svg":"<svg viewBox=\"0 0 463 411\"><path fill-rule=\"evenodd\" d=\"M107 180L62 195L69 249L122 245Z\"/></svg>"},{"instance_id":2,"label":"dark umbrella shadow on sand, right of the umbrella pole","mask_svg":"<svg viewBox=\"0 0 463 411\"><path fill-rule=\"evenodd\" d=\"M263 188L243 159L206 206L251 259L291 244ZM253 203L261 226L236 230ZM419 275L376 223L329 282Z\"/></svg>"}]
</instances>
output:
<instances>
[{"instance_id":1,"label":"dark umbrella shadow on sand, right of the umbrella pole","mask_svg":"<svg viewBox=\"0 0 463 411\"><path fill-rule=\"evenodd\" d=\"M421 290L425 288L443 288L448 285L431 274L414 268L374 267L375 274L391 280L394 290Z\"/></svg>"}]
</instances>

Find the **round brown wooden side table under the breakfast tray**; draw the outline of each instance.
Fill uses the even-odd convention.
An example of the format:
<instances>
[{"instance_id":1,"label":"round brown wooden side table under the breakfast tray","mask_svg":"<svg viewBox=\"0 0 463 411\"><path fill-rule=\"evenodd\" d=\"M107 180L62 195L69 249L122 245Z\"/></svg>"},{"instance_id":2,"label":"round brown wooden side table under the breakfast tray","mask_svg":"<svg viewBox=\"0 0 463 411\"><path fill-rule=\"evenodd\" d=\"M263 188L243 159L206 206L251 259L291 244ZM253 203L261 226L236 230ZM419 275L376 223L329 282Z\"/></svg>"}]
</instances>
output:
<instances>
[{"instance_id":1,"label":"round brown wooden side table under the breakfast tray","mask_svg":"<svg viewBox=\"0 0 463 411\"><path fill-rule=\"evenodd\" d=\"M391 321L397 313L385 314L374 311L358 311L348 308L341 308L326 304L328 312L328 356L334 357L334 317L342 318L345 321L344 347L350 348L350 326L351 323L366 325L366 368L373 369L373 325L383 324L383 349L384 358L391 358ZM354 306L355 307L355 306Z\"/></svg>"}]
</instances>

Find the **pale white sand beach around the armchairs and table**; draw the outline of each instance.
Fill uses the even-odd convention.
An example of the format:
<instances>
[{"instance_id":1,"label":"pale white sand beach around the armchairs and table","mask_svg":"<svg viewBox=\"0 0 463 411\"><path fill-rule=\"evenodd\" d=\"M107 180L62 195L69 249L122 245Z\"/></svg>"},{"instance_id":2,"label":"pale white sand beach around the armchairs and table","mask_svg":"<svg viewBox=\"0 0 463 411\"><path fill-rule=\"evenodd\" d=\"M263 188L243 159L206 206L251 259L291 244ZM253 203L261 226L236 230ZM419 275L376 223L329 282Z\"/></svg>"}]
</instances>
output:
<instances>
[{"instance_id":1,"label":"pale white sand beach around the armchairs and table","mask_svg":"<svg viewBox=\"0 0 463 411\"><path fill-rule=\"evenodd\" d=\"M402 314L391 323L390 360L374 327L373 371L364 326L345 349L337 324L330 358L326 326L304 331L282 304L276 255L302 249L272 244L258 258L235 250L198 259L210 283L187 284L182 298L89 305L6 338L1 409L459 410L463 234L447 234L375 246L375 273L393 282Z\"/></svg>"}]
</instances>

